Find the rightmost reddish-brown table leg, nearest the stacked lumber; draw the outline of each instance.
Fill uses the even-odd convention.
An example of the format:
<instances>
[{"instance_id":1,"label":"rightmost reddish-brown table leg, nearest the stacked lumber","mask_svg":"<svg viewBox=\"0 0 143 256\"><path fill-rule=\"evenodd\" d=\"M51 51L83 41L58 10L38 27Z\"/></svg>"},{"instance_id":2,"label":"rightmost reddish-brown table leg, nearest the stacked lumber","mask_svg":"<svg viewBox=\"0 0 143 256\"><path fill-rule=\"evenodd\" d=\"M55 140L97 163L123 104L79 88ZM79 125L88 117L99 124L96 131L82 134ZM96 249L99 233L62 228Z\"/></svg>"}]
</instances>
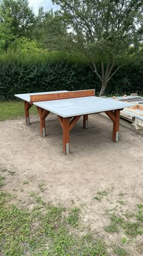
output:
<instances>
[{"instance_id":1,"label":"rightmost reddish-brown table leg, nearest the stacked lumber","mask_svg":"<svg viewBox=\"0 0 143 256\"><path fill-rule=\"evenodd\" d=\"M120 110L115 110L113 115L115 116L115 121L113 121L113 136L112 140L118 142L119 140L119 115Z\"/></svg>"}]
</instances>

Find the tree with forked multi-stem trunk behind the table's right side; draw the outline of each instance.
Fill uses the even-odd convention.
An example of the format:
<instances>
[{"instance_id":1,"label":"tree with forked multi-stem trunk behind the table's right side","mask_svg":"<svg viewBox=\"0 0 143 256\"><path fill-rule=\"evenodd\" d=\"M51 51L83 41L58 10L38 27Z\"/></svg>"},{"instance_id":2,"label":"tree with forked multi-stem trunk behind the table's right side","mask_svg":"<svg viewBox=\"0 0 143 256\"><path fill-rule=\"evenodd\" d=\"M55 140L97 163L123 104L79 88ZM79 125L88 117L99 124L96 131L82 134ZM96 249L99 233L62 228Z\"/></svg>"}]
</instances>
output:
<instances>
[{"instance_id":1,"label":"tree with forked multi-stem trunk behind the table's right side","mask_svg":"<svg viewBox=\"0 0 143 256\"><path fill-rule=\"evenodd\" d=\"M142 38L142 0L53 0L60 5L71 48L101 80L100 96ZM101 68L98 70L98 63ZM101 70L101 71L100 71Z\"/></svg>"}]
</instances>

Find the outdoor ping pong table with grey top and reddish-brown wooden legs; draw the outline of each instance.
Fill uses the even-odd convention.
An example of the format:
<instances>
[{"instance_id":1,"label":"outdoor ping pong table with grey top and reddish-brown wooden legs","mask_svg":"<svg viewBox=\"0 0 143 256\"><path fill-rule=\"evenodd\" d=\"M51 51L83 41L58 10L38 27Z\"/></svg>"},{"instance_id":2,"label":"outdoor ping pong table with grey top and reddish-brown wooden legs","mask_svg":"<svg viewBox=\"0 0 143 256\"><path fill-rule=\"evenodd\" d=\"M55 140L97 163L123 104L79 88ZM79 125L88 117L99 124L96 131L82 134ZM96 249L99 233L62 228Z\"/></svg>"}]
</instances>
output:
<instances>
[{"instance_id":1,"label":"outdoor ping pong table with grey top and reddish-brown wooden legs","mask_svg":"<svg viewBox=\"0 0 143 256\"><path fill-rule=\"evenodd\" d=\"M15 94L16 97L24 100L25 123L30 124L28 110L36 105L39 113L41 136L45 137L45 118L48 114L55 113L63 130L63 151L70 153L70 130L83 116L83 127L88 128L88 115L105 112L113 121L112 140L119 138L119 116L120 110L132 107L133 104L115 99L95 97L95 90L81 91L54 91L45 93Z\"/></svg>"}]
</instances>

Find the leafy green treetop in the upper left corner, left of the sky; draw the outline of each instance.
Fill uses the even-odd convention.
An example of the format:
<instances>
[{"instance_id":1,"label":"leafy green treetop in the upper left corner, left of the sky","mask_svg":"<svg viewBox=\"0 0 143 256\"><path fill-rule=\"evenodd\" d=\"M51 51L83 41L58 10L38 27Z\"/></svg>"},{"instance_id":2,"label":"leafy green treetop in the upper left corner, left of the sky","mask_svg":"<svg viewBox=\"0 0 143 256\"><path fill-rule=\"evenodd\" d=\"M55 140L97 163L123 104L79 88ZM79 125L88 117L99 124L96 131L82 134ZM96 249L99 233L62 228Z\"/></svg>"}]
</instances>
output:
<instances>
[{"instance_id":1,"label":"leafy green treetop in the upper left corner, left of the sky","mask_svg":"<svg viewBox=\"0 0 143 256\"><path fill-rule=\"evenodd\" d=\"M10 30L10 34L16 37L32 37L35 14L27 0L0 0L0 16L3 26Z\"/></svg>"}]
</instances>

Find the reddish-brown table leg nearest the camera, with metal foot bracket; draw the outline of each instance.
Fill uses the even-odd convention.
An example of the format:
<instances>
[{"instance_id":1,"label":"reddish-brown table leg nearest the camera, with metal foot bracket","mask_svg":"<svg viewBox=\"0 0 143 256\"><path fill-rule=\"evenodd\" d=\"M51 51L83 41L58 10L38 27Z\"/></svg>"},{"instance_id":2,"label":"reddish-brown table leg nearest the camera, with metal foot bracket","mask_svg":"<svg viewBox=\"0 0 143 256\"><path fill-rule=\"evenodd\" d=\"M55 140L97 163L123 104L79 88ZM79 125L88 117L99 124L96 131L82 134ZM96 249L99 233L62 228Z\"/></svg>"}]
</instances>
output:
<instances>
[{"instance_id":1,"label":"reddish-brown table leg nearest the camera, with metal foot bracket","mask_svg":"<svg viewBox=\"0 0 143 256\"><path fill-rule=\"evenodd\" d=\"M63 152L70 154L70 119L63 118Z\"/></svg>"}]
</instances>

